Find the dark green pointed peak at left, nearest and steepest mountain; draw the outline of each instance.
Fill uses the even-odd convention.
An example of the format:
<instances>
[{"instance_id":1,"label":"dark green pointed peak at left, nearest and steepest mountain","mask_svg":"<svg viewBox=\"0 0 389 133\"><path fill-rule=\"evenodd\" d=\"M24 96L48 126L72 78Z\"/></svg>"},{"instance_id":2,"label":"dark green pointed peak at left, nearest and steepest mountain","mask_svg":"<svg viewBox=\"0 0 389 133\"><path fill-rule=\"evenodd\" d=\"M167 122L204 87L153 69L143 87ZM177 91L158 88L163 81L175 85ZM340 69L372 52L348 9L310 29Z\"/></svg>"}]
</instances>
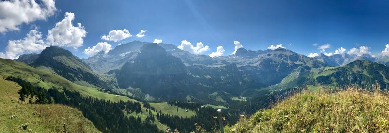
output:
<instances>
[{"instance_id":1,"label":"dark green pointed peak at left, nearest and steepest mountain","mask_svg":"<svg viewBox=\"0 0 389 133\"><path fill-rule=\"evenodd\" d=\"M47 67L56 74L75 83L87 82L104 89L112 89L102 77L90 70L90 67L70 51L57 46L44 49L39 57L30 64L34 67Z\"/></svg>"}]
</instances>

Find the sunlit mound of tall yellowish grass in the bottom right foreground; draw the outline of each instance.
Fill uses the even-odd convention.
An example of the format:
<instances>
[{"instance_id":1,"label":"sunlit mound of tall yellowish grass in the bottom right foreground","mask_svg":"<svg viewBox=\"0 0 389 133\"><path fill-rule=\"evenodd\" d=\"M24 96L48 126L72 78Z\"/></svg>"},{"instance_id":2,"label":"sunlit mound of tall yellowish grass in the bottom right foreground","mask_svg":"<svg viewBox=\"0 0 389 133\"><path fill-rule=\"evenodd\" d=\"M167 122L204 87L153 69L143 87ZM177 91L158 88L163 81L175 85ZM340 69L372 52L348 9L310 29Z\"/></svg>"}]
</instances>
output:
<instances>
[{"instance_id":1,"label":"sunlit mound of tall yellowish grass in the bottom right foreground","mask_svg":"<svg viewBox=\"0 0 389 133\"><path fill-rule=\"evenodd\" d=\"M305 91L271 109L260 110L251 118L244 116L226 130L229 133L388 133L389 95L375 90Z\"/></svg>"}]
</instances>

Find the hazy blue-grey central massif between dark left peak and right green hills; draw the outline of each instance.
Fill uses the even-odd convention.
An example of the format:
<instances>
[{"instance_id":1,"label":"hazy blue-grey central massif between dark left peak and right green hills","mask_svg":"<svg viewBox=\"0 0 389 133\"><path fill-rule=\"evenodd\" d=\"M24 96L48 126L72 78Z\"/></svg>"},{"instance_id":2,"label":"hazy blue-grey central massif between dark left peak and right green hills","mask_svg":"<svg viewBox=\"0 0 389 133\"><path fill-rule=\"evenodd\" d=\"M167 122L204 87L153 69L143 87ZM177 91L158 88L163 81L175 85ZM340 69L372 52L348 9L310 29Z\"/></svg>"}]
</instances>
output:
<instances>
[{"instance_id":1,"label":"hazy blue-grey central massif between dark left peak and right green hills","mask_svg":"<svg viewBox=\"0 0 389 133\"><path fill-rule=\"evenodd\" d=\"M241 48L234 55L211 58L191 54L172 44L140 41L122 44L106 55L100 53L84 61L99 73L113 74L120 88L140 88L154 97L168 99L208 97L217 91L239 96L247 89L280 83L298 67L326 66L283 48L265 51Z\"/></svg>"}]
</instances>

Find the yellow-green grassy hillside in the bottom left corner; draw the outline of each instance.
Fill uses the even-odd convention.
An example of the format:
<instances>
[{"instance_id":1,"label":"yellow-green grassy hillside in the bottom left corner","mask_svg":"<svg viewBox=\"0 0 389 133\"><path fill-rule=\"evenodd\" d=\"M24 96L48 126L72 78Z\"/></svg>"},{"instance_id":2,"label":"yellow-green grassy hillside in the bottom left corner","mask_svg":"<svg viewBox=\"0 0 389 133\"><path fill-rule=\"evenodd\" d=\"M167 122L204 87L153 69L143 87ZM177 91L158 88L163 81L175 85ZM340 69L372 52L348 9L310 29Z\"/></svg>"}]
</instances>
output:
<instances>
[{"instance_id":1,"label":"yellow-green grassy hillside in the bottom left corner","mask_svg":"<svg viewBox=\"0 0 389 133\"><path fill-rule=\"evenodd\" d=\"M27 104L19 102L18 90L21 87L11 81L0 79L0 133L63 132L63 124L70 133L99 133L82 113L74 108L58 105ZM18 126L27 124L23 130Z\"/></svg>"}]
</instances>

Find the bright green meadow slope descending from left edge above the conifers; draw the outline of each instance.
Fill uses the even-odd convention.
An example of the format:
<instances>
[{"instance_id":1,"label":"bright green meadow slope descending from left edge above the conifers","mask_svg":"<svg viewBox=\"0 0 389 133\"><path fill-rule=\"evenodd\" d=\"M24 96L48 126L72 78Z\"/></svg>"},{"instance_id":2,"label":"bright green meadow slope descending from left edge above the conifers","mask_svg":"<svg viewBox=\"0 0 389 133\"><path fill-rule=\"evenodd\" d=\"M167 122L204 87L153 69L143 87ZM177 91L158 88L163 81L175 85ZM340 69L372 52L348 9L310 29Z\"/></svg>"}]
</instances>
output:
<instances>
[{"instance_id":1,"label":"bright green meadow slope descending from left edge above the conifers","mask_svg":"<svg viewBox=\"0 0 389 133\"><path fill-rule=\"evenodd\" d=\"M1 59L0 58L0 76L2 77L8 77L8 76L14 76L14 77L19 77L25 81L28 81L32 83L35 86L40 86L46 89L49 88L57 88L57 89L62 89L62 88L67 88L70 90L74 91L79 91L82 95L84 96L91 96L91 97L96 97L99 99L105 99L105 100L110 100L112 102L118 102L120 100L123 101L134 101L137 102L136 100L130 99L126 96L121 96L121 95L114 95L114 94L109 94L109 93L104 93L101 91L98 91L98 88L94 87L88 87L88 86L81 86L79 84L75 84L57 74L53 74L52 72L48 71L45 68L42 69L36 69L34 67L31 67L23 62L16 62L12 61L9 59ZM2 79L1 77L1 79ZM141 102L142 104L142 102ZM179 108L179 111L182 113L176 113L176 106L170 106L167 105L167 103L151 103L151 106L157 108L157 110L162 110L163 113L168 113L172 115L178 115L182 117L189 117L195 115L195 112L193 111L188 111L186 112L184 109ZM134 115L134 116L141 116L142 120L144 120L148 116L148 112L146 112L146 108L144 108L141 105L142 108L142 113L140 114L129 114L129 115ZM176 111L173 112L172 110ZM153 111L153 114L156 115L157 112ZM166 125L163 125L159 122L155 123L161 130L165 130L167 128Z\"/></svg>"}]
</instances>

